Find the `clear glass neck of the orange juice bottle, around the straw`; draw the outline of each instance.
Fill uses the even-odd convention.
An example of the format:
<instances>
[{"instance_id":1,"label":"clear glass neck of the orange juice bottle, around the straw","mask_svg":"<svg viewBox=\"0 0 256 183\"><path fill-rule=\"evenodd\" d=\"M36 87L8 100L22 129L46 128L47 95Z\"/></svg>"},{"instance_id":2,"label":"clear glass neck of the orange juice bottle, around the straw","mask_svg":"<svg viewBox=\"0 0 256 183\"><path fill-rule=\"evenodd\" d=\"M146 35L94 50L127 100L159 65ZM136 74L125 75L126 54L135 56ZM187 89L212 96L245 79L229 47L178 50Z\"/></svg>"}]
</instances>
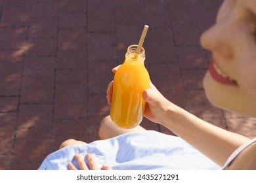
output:
<instances>
[{"instance_id":1,"label":"clear glass neck of the orange juice bottle, around the straw","mask_svg":"<svg viewBox=\"0 0 256 183\"><path fill-rule=\"evenodd\" d=\"M127 61L131 61L133 63L144 63L145 60L145 50L141 47L139 54L136 54L137 44L133 44L127 48L127 53L125 54L125 58Z\"/></svg>"}]
</instances>

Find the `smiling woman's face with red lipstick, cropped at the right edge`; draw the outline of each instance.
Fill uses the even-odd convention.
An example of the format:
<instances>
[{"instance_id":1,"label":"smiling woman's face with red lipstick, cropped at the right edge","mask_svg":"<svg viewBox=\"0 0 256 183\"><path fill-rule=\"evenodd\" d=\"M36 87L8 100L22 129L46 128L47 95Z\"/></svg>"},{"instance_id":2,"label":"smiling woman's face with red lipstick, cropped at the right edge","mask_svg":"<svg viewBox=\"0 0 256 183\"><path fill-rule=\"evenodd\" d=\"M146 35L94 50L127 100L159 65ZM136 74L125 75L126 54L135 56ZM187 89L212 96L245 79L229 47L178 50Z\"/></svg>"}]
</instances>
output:
<instances>
[{"instance_id":1,"label":"smiling woman's face with red lipstick, cropped at the right edge","mask_svg":"<svg viewBox=\"0 0 256 183\"><path fill-rule=\"evenodd\" d=\"M209 101L256 117L256 1L224 1L200 41L213 54L203 79Z\"/></svg>"}]
</instances>

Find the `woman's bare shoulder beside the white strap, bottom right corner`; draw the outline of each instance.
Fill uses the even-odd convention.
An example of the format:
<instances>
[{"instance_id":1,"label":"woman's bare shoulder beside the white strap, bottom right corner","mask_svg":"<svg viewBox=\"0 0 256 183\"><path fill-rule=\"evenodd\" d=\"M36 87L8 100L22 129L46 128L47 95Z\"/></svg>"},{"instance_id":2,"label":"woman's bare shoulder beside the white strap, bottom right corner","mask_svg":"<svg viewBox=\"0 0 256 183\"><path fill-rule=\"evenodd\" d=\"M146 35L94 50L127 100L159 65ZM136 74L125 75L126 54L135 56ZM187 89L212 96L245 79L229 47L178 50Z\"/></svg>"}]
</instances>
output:
<instances>
[{"instance_id":1,"label":"woman's bare shoulder beside the white strap, bottom right corner","mask_svg":"<svg viewBox=\"0 0 256 183\"><path fill-rule=\"evenodd\" d=\"M256 170L256 138L230 163L227 169Z\"/></svg>"}]
</instances>

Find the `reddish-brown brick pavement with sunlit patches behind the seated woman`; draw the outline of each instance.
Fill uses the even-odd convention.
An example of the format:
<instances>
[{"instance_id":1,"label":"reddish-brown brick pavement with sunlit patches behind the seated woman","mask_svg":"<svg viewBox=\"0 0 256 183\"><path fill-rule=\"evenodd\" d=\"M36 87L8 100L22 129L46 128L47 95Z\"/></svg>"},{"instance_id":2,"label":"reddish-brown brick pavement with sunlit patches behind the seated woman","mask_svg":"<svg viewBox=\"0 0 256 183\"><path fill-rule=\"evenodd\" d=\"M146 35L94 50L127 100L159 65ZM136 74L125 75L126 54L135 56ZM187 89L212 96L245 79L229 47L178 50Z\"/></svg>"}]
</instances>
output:
<instances>
[{"instance_id":1,"label":"reddish-brown brick pavement with sunlit patches behind the seated woman","mask_svg":"<svg viewBox=\"0 0 256 183\"><path fill-rule=\"evenodd\" d=\"M199 36L221 0L0 0L0 169L37 169L60 142L98 139L106 87L144 24L146 67L168 99L256 136L256 121L207 101ZM172 134L144 120L142 126ZM253 130L254 129L254 130Z\"/></svg>"}]
</instances>

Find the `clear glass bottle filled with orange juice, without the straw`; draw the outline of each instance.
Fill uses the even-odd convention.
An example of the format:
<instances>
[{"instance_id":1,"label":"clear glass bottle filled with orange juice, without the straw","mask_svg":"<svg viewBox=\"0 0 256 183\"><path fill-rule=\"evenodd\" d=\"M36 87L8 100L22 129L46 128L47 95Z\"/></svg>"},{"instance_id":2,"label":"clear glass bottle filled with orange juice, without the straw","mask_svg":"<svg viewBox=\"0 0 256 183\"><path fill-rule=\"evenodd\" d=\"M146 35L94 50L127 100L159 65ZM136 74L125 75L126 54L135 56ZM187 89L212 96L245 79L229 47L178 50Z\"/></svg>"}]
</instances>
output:
<instances>
[{"instance_id":1,"label":"clear glass bottle filled with orange juice, without the straw","mask_svg":"<svg viewBox=\"0 0 256 183\"><path fill-rule=\"evenodd\" d=\"M110 116L119 127L132 128L143 118L145 101L142 92L149 87L150 76L144 66L145 50L135 55L137 45L131 45L124 63L114 76Z\"/></svg>"}]
</instances>

